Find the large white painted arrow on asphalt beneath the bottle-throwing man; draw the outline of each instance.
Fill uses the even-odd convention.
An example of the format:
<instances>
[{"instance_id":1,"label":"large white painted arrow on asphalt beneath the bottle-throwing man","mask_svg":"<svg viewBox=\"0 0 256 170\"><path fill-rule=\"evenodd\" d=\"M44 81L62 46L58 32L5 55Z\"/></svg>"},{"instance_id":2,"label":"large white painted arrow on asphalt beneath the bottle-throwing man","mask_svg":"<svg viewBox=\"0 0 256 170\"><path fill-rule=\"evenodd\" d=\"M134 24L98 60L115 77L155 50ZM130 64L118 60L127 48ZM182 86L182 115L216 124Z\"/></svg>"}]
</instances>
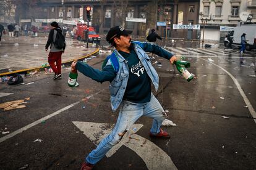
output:
<instances>
[{"instance_id":1,"label":"large white painted arrow on asphalt beneath the bottle-throwing man","mask_svg":"<svg viewBox=\"0 0 256 170\"><path fill-rule=\"evenodd\" d=\"M93 123L93 122L79 122L73 121L83 134L87 136L96 145L105 138L111 131L114 125L107 123ZM150 140L147 140L135 132L139 131L142 124L133 124L130 131L126 132L122 137L122 140L116 144L108 153L107 157L112 156L122 146L133 150L137 155L142 158L148 169L177 169L173 161L160 147L153 144ZM130 138L129 138L130 137ZM143 145L143 147L142 147Z\"/></svg>"}]
</instances>

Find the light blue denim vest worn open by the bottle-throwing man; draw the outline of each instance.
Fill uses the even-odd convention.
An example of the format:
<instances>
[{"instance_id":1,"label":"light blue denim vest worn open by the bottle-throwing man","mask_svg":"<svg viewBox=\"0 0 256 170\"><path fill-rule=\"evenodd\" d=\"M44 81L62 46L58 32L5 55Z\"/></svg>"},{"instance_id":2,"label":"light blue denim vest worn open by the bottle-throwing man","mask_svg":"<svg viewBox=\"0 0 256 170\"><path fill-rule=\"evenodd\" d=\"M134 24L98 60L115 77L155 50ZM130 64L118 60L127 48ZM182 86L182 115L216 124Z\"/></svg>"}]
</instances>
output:
<instances>
[{"instance_id":1,"label":"light blue denim vest worn open by the bottle-throwing man","mask_svg":"<svg viewBox=\"0 0 256 170\"><path fill-rule=\"evenodd\" d=\"M147 71L148 76L151 79L151 82L155 86L155 90L157 91L159 77L155 68L153 68L153 66L151 65L150 58L148 57L146 52L143 51L142 47L140 47L136 42L132 42L132 43L134 44L134 50L136 54L138 55L140 61L142 62L145 70ZM122 98L124 96L124 92L126 91L126 86L129 78L129 68L126 63L126 60L116 50L114 51L114 53L119 59L119 70L117 72L116 77L114 78L114 80L111 82L109 86L109 91L111 94L111 97L110 97L111 107L113 111L115 111L119 107L120 103L122 102ZM167 52L167 54L169 55L169 58L171 58L173 55L169 52Z\"/></svg>"}]
</instances>

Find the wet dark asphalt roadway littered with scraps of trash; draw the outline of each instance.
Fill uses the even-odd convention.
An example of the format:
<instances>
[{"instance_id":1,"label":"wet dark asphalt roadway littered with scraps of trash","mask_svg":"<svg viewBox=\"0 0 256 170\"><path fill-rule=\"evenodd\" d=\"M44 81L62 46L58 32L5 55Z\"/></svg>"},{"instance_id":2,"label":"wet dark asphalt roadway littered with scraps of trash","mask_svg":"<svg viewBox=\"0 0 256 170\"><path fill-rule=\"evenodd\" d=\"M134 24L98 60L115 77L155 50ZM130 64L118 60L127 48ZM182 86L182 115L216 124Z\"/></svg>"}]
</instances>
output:
<instances>
[{"instance_id":1,"label":"wet dark asphalt roadway littered with scraps of trash","mask_svg":"<svg viewBox=\"0 0 256 170\"><path fill-rule=\"evenodd\" d=\"M166 49L186 57L195 76L187 82L167 60L151 60L160 76L159 90L152 91L177 124L162 126L171 139L151 139L152 119L142 117L135 134L95 169L256 169L255 51L240 55L218 44L202 49L182 41ZM88 64L101 69L106 55ZM0 110L0 169L79 169L111 130L118 111L111 111L109 83L79 73L79 87L71 88L69 71L62 68L56 81L53 74L38 73L25 84L0 83L0 103L30 97L25 108Z\"/></svg>"}]
</instances>

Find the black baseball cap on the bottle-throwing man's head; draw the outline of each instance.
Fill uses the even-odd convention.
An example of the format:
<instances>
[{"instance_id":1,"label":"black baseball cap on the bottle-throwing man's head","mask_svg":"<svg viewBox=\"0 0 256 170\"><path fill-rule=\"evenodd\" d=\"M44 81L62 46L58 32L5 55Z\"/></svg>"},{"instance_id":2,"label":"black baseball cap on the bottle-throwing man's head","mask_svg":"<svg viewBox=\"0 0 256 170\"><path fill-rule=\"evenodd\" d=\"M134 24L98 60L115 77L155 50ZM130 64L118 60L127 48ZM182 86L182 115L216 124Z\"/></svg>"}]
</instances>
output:
<instances>
[{"instance_id":1,"label":"black baseball cap on the bottle-throwing man's head","mask_svg":"<svg viewBox=\"0 0 256 170\"><path fill-rule=\"evenodd\" d=\"M116 36L129 35L131 33L132 33L132 31L125 30L124 28L122 28L122 26L114 26L114 27L110 28L110 30L108 31L108 34L106 36L106 41L111 43L111 42L113 42L113 39Z\"/></svg>"}]
</instances>

